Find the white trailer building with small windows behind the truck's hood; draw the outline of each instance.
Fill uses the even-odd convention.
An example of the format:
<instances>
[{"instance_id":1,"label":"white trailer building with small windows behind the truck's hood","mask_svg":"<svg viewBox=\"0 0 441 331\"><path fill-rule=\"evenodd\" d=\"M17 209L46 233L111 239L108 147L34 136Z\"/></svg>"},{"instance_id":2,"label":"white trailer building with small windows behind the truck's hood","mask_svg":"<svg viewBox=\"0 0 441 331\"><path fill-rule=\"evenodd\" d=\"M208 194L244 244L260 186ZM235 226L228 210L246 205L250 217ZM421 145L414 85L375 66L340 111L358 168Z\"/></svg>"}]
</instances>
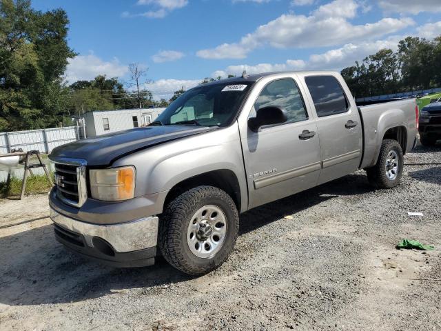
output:
<instances>
[{"instance_id":1,"label":"white trailer building with small windows behind the truck's hood","mask_svg":"<svg viewBox=\"0 0 441 331\"><path fill-rule=\"evenodd\" d=\"M140 126L147 126L163 112L165 108L97 110L86 112L85 134L92 138L110 132L117 132Z\"/></svg>"}]
</instances>

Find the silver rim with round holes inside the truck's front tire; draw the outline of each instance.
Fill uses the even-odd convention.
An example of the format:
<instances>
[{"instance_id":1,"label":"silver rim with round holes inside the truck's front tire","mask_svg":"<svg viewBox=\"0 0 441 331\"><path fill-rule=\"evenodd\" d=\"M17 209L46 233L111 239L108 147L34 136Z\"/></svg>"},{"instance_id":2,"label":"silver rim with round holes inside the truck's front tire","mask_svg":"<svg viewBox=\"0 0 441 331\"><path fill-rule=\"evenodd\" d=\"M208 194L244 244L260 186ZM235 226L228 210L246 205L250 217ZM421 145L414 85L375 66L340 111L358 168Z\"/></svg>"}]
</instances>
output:
<instances>
[{"instance_id":1,"label":"silver rim with round holes inside the truck's front tire","mask_svg":"<svg viewBox=\"0 0 441 331\"><path fill-rule=\"evenodd\" d=\"M227 217L216 205L204 205L189 221L187 244L196 257L209 259L222 248L227 237Z\"/></svg>"}]
</instances>

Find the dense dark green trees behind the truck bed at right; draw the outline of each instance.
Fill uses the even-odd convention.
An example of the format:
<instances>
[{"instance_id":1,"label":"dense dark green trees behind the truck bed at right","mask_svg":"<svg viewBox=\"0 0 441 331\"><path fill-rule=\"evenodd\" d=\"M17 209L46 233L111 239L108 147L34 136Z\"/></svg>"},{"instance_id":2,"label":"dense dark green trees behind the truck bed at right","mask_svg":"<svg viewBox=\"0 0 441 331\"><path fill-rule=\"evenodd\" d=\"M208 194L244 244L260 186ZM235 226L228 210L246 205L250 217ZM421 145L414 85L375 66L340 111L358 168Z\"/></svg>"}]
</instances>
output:
<instances>
[{"instance_id":1,"label":"dense dark green trees behind the truck bed at right","mask_svg":"<svg viewBox=\"0 0 441 331\"><path fill-rule=\"evenodd\" d=\"M407 37L398 49L382 49L341 71L354 97L371 97L441 86L441 35Z\"/></svg>"}]
</instances>

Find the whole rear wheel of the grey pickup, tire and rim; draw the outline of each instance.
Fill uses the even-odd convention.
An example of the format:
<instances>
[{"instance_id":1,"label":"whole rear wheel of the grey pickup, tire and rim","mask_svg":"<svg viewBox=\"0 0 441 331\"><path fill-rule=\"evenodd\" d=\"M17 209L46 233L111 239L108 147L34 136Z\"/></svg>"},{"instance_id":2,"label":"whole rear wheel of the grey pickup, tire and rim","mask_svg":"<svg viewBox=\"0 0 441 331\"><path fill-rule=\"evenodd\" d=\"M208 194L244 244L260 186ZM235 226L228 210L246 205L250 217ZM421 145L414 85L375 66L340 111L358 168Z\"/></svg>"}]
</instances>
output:
<instances>
[{"instance_id":1,"label":"whole rear wheel of the grey pickup, tire and rim","mask_svg":"<svg viewBox=\"0 0 441 331\"><path fill-rule=\"evenodd\" d=\"M367 168L367 179L375 188L394 188L400 182L404 159L398 141L384 139L377 164Z\"/></svg>"}]
</instances>

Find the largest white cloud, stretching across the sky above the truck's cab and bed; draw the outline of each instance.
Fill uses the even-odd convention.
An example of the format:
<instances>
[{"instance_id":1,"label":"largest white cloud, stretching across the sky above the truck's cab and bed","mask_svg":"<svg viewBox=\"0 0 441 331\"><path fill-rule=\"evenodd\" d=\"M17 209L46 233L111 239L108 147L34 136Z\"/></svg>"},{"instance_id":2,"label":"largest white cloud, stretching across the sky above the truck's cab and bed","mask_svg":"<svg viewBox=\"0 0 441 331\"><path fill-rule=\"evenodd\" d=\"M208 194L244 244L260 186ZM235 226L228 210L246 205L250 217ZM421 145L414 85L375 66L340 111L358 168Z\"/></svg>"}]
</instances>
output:
<instances>
[{"instance_id":1,"label":"largest white cloud, stretching across the sky above the truck's cab and bed","mask_svg":"<svg viewBox=\"0 0 441 331\"><path fill-rule=\"evenodd\" d=\"M335 0L309 16L283 14L245 35L238 43L223 43L216 48L199 50L196 55L203 59L244 59L249 52L265 45L274 48L338 46L360 39L369 41L415 24L412 19L402 17L354 26L347 19L356 17L358 6L354 0Z\"/></svg>"}]
</instances>

